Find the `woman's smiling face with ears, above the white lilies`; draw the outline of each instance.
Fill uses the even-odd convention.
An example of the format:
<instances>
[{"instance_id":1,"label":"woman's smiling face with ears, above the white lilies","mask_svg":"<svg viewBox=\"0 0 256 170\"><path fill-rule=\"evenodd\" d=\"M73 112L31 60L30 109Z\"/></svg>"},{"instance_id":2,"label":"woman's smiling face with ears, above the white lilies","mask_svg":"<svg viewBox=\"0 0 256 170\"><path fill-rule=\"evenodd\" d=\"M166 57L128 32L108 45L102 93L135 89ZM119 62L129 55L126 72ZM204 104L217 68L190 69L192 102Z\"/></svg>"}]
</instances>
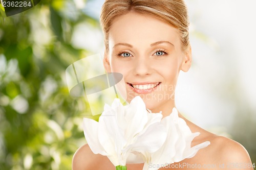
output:
<instances>
[{"instance_id":1,"label":"woman's smiling face with ears, above the white lilies","mask_svg":"<svg viewBox=\"0 0 256 170\"><path fill-rule=\"evenodd\" d=\"M108 72L123 75L127 102L139 95L152 112L170 111L179 71L190 67L178 30L150 15L134 12L117 17L109 34ZM167 113L166 113L167 114Z\"/></svg>"}]
</instances>

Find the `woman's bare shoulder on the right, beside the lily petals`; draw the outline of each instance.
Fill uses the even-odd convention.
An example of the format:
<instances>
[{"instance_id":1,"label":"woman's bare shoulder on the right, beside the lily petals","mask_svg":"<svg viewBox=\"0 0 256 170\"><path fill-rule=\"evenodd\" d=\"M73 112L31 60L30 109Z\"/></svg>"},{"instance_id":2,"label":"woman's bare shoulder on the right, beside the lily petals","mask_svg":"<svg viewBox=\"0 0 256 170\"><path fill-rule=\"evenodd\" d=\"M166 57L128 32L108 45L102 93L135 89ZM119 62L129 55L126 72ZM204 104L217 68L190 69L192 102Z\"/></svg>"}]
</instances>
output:
<instances>
[{"instance_id":1,"label":"woman's bare shoulder on the right, beside the lily petals","mask_svg":"<svg viewBox=\"0 0 256 170\"><path fill-rule=\"evenodd\" d=\"M193 132L200 132L193 142L192 146L200 144L204 141L210 141L208 147L199 150L195 157L190 158L189 163L198 162L207 168L199 169L248 169L252 170L250 156L246 149L239 142L229 139L224 136L218 136L210 133L195 124L188 122ZM222 167L220 167L220 165ZM224 167L223 167L224 166Z\"/></svg>"}]
</instances>

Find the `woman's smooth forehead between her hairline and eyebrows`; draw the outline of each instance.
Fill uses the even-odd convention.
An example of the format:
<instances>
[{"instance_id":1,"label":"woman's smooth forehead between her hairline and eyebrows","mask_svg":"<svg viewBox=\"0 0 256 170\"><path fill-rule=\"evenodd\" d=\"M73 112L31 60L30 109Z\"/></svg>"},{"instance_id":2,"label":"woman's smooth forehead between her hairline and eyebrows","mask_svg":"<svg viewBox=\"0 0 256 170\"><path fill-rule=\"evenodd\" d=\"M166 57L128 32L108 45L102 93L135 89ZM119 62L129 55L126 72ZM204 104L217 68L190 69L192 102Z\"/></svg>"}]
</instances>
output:
<instances>
[{"instance_id":1,"label":"woman's smooth forehead between her hairline and eyebrows","mask_svg":"<svg viewBox=\"0 0 256 170\"><path fill-rule=\"evenodd\" d=\"M176 47L181 46L178 30L172 25L154 16L135 12L129 12L113 20L109 40L110 45L124 41L131 44L172 41Z\"/></svg>"}]
</instances>

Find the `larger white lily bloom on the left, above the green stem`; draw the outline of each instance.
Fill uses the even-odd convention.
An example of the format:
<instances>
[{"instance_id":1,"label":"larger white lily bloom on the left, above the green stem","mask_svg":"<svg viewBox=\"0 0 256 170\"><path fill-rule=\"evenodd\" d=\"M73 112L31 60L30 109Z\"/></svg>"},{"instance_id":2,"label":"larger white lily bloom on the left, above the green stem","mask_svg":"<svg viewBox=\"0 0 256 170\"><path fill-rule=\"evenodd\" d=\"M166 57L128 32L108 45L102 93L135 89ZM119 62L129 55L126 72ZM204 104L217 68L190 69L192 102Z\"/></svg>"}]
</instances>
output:
<instances>
[{"instance_id":1,"label":"larger white lily bloom on the left, above the green stem","mask_svg":"<svg viewBox=\"0 0 256 170\"><path fill-rule=\"evenodd\" d=\"M115 165L138 163L137 153L153 153L166 139L161 113L147 113L143 100L136 96L123 106L115 99L104 106L99 122L83 118L83 132L94 154L107 156ZM132 160L131 160L132 158Z\"/></svg>"}]
</instances>

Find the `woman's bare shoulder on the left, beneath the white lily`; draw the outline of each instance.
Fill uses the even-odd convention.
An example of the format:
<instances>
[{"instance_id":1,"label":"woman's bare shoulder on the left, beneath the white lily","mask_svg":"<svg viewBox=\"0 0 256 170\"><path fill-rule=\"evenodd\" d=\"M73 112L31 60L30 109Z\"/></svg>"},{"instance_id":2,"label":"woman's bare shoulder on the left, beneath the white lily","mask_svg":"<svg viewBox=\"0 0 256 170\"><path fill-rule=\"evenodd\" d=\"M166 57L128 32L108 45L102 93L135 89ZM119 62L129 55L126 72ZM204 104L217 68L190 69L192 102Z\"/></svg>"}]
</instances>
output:
<instances>
[{"instance_id":1,"label":"woman's bare shoulder on the left, beneath the white lily","mask_svg":"<svg viewBox=\"0 0 256 170\"><path fill-rule=\"evenodd\" d=\"M104 165L104 167L102 167ZM74 154L72 160L73 170L90 170L90 169L113 169L112 163L105 156L94 154L88 144L82 145Z\"/></svg>"}]
</instances>

